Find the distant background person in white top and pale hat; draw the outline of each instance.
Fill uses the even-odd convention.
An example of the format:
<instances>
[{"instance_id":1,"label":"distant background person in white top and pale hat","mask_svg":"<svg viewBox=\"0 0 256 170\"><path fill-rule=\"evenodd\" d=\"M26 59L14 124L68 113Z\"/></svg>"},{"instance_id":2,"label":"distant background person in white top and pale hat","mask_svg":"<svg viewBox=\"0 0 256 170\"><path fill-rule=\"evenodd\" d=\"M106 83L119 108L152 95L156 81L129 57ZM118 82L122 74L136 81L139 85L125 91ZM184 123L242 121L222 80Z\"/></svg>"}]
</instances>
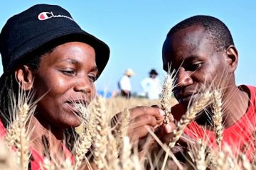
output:
<instances>
[{"instance_id":1,"label":"distant background person in white top and pale hat","mask_svg":"<svg viewBox=\"0 0 256 170\"><path fill-rule=\"evenodd\" d=\"M129 98L131 96L132 85L130 78L134 75L132 69L127 69L124 75L118 81L118 88L121 96Z\"/></svg>"}]
</instances>

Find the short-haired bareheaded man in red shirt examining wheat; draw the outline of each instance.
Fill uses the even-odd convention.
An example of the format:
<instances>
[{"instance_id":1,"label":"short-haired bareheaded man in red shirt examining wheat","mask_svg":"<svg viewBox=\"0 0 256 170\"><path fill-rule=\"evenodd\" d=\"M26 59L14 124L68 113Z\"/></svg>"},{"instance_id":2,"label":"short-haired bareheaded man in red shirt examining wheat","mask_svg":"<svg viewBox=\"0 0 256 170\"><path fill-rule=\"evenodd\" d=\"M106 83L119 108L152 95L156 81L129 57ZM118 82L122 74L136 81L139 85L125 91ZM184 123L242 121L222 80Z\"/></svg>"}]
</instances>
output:
<instances>
[{"instance_id":1,"label":"short-haired bareheaded man in red shirt examining wheat","mask_svg":"<svg viewBox=\"0 0 256 170\"><path fill-rule=\"evenodd\" d=\"M164 70L176 70L174 96L178 105L172 108L179 120L189 101L214 84L223 91L223 144L235 150L245 149L251 159L251 145L256 125L255 87L237 86L235 69L238 66L238 50L230 30L211 16L193 16L171 28L163 45ZM185 133L193 138L208 136L215 145L213 113L202 113L188 125ZM246 147L247 144L249 147ZM225 146L225 145L224 145Z\"/></svg>"}]
</instances>

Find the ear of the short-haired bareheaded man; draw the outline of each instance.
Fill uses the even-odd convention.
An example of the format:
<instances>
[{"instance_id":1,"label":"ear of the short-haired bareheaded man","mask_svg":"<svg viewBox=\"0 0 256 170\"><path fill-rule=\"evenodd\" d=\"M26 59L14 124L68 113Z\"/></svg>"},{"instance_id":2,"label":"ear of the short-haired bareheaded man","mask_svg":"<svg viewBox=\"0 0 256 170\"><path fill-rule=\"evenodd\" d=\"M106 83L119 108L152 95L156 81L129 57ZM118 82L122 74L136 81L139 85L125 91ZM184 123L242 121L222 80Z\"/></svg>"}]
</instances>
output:
<instances>
[{"instance_id":1,"label":"ear of the short-haired bareheaded man","mask_svg":"<svg viewBox=\"0 0 256 170\"><path fill-rule=\"evenodd\" d=\"M230 72L235 72L238 67L238 50L234 45L230 45L227 50L228 64L230 67Z\"/></svg>"}]
</instances>

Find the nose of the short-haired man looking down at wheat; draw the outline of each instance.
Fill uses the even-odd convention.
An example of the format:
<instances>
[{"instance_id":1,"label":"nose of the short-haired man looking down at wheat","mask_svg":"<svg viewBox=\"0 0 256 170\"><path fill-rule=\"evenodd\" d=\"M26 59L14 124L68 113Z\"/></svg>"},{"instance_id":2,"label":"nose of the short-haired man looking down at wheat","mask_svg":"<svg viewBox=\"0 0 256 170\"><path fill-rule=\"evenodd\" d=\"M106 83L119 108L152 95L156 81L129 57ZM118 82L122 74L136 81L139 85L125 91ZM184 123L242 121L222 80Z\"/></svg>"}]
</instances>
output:
<instances>
[{"instance_id":1,"label":"nose of the short-haired man looking down at wheat","mask_svg":"<svg viewBox=\"0 0 256 170\"><path fill-rule=\"evenodd\" d=\"M176 86L183 87L193 84L193 79L191 78L191 72L186 71L183 67L178 70L176 75Z\"/></svg>"}]
</instances>

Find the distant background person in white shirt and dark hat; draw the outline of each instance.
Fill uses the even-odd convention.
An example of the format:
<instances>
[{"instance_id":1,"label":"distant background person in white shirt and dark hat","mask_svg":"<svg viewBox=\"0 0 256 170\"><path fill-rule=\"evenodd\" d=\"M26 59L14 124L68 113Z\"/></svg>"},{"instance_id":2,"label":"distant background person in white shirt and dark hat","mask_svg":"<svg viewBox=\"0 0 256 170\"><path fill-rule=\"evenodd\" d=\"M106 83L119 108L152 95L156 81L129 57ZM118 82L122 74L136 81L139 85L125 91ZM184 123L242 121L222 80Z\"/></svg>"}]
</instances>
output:
<instances>
[{"instance_id":1,"label":"distant background person in white shirt and dark hat","mask_svg":"<svg viewBox=\"0 0 256 170\"><path fill-rule=\"evenodd\" d=\"M151 69L149 72L149 77L142 80L141 86L149 99L159 99L161 94L161 82L157 79L158 73L155 69Z\"/></svg>"}]
</instances>

